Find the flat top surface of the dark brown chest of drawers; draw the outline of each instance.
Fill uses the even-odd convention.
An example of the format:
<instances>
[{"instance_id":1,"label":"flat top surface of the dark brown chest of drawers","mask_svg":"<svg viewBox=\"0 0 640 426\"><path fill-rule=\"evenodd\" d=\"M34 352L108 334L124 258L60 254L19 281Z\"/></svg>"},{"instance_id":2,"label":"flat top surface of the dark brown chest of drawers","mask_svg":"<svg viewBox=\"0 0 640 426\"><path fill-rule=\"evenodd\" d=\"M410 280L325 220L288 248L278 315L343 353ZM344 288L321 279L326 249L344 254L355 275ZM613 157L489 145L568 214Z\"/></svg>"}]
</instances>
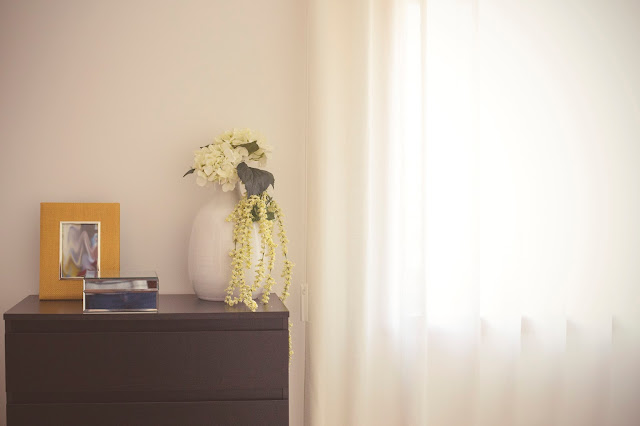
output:
<instances>
[{"instance_id":1,"label":"flat top surface of the dark brown chest of drawers","mask_svg":"<svg viewBox=\"0 0 640 426\"><path fill-rule=\"evenodd\" d=\"M258 301L258 309L251 312L243 303L228 306L224 302L209 302L194 294L160 294L157 313L83 313L82 300L39 300L38 295L25 297L4 314L5 320L67 320L126 319L237 319L237 318L287 318L289 311L276 294L269 303Z\"/></svg>"}]
</instances>

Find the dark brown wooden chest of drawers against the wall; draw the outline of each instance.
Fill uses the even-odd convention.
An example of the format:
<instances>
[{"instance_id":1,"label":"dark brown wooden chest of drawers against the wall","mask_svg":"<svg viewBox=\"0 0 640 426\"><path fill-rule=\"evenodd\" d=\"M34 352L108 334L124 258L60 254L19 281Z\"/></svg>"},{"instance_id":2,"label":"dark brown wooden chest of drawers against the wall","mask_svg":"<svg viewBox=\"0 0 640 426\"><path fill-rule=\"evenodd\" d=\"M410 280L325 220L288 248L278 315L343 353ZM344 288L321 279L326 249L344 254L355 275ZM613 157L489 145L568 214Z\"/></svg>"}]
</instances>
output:
<instances>
[{"instance_id":1,"label":"dark brown wooden chest of drawers against the wall","mask_svg":"<svg viewBox=\"0 0 640 426\"><path fill-rule=\"evenodd\" d=\"M4 314L7 424L286 425L289 312L160 295L157 314L29 296Z\"/></svg>"}]
</instances>

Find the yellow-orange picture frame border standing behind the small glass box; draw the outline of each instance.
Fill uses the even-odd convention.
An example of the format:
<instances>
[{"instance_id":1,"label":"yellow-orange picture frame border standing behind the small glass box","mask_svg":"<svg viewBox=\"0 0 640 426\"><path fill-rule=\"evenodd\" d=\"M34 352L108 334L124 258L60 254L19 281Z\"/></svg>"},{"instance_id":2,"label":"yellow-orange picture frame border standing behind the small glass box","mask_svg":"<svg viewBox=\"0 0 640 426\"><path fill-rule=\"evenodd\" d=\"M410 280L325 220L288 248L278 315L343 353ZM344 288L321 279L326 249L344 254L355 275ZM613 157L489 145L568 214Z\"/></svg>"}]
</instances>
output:
<instances>
[{"instance_id":1,"label":"yellow-orange picture frame border standing behind the small glass box","mask_svg":"<svg viewBox=\"0 0 640 426\"><path fill-rule=\"evenodd\" d=\"M82 299L82 279L61 278L62 225L99 224L101 270L120 270L119 203L40 203L40 300Z\"/></svg>"}]
</instances>

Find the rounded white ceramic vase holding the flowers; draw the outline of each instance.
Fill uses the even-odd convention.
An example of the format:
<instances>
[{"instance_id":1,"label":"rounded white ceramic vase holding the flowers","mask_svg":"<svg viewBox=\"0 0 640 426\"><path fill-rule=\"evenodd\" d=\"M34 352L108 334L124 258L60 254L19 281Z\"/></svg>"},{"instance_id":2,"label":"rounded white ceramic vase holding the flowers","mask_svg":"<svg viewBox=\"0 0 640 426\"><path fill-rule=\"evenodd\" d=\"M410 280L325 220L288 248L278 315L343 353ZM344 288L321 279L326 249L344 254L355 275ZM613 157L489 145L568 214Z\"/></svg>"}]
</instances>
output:
<instances>
[{"instance_id":1,"label":"rounded white ceramic vase holding the flowers","mask_svg":"<svg viewBox=\"0 0 640 426\"><path fill-rule=\"evenodd\" d=\"M234 191L224 192L213 185L214 194L196 214L189 239L189 279L198 298L223 301L231 281L233 249L233 223L226 218L240 200L240 185ZM253 228L251 265L255 266L260 251L260 234ZM247 283L253 283L253 269L245 269ZM254 299L260 292L253 294Z\"/></svg>"}]
</instances>

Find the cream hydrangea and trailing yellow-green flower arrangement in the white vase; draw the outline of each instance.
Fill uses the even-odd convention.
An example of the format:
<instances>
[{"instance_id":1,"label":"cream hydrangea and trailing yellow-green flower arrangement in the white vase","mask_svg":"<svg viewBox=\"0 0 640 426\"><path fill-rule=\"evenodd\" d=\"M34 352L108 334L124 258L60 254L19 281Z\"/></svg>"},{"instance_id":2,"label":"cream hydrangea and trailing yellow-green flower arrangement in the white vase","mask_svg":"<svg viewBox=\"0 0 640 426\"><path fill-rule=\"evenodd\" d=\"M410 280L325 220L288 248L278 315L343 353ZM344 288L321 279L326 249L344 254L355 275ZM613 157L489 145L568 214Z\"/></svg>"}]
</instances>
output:
<instances>
[{"instance_id":1,"label":"cream hydrangea and trailing yellow-green flower arrangement in the white vase","mask_svg":"<svg viewBox=\"0 0 640 426\"><path fill-rule=\"evenodd\" d=\"M269 186L273 187L273 175L251 165L264 167L271 156L272 147L261 135L249 130L227 131L214 139L210 145L200 147L194 152L193 166L184 176L196 174L196 183L205 186L209 183L222 185L223 191L235 189L241 181L246 189L242 198L230 212L227 221L233 222L234 248L231 256L231 281L226 290L225 302L235 305L243 302L249 309L255 311L258 307L252 298L252 293L262 286L262 303L269 302L269 294L275 284L272 276L276 260L274 231L277 226L277 237L280 240L284 265L282 277L284 290L282 300L289 296L293 262L288 257L286 231L284 228L284 213L278 203L267 193ZM183 176L183 177L184 177ZM259 224L260 253L256 265L251 264L251 237L253 223ZM255 268L253 283L247 283L245 270Z\"/></svg>"}]
</instances>

